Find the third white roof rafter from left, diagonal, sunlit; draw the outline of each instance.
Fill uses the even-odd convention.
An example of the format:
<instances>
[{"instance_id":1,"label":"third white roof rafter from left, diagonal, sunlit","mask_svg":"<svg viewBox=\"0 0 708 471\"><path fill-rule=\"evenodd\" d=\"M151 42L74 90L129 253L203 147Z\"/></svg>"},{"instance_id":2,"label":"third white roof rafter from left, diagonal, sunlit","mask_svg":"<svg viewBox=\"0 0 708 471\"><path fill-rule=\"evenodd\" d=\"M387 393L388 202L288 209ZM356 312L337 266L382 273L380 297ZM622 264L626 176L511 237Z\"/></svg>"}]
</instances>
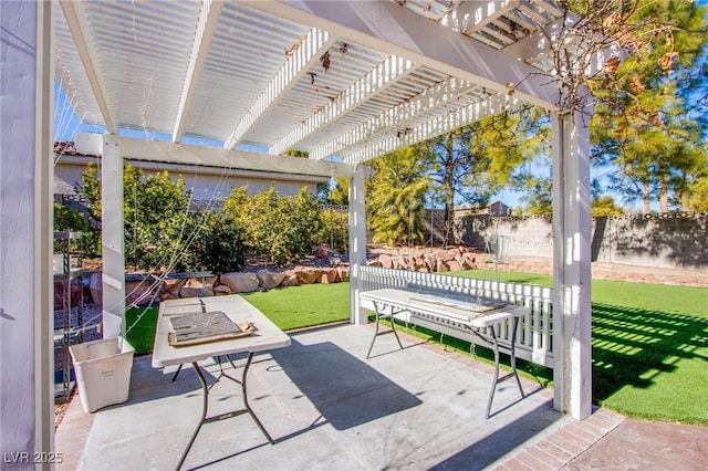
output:
<instances>
[{"instance_id":1,"label":"third white roof rafter from left, diagonal, sunlit","mask_svg":"<svg viewBox=\"0 0 708 471\"><path fill-rule=\"evenodd\" d=\"M308 71L330 50L337 38L326 31L313 28L283 66L270 81L266 90L253 102L236 128L223 143L223 148L232 149L243 140L248 130L256 126L277 105Z\"/></svg>"}]
</instances>

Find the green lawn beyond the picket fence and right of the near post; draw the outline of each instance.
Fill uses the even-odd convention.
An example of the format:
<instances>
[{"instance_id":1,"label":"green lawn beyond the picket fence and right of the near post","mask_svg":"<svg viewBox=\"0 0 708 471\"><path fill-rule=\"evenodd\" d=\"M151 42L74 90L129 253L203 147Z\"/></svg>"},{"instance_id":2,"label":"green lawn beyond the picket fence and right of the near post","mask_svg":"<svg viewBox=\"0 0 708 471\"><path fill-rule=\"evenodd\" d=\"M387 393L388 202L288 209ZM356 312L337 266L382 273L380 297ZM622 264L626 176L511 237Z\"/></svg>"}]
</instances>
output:
<instances>
[{"instance_id":1,"label":"green lawn beyond the picket fence and right of the near post","mask_svg":"<svg viewBox=\"0 0 708 471\"><path fill-rule=\"evenodd\" d=\"M524 273L499 280L553 283ZM592 307L594 401L632 417L708 423L708 289L593 280Z\"/></svg>"}]
</instances>

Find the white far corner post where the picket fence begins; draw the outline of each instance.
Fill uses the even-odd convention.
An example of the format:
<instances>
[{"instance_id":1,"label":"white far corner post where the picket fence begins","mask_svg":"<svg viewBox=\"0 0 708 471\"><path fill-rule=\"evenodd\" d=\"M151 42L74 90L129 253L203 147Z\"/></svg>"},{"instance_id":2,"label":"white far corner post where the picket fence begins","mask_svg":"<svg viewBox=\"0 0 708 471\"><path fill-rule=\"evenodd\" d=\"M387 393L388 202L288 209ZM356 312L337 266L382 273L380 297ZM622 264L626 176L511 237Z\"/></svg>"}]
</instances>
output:
<instances>
[{"instance_id":1,"label":"white far corner post where the picket fence begins","mask_svg":"<svg viewBox=\"0 0 708 471\"><path fill-rule=\"evenodd\" d=\"M364 206L364 172L360 166L350 184L350 320L352 324L366 325L368 317L362 308L358 293L362 291L361 266L366 264L366 209Z\"/></svg>"}]
</instances>

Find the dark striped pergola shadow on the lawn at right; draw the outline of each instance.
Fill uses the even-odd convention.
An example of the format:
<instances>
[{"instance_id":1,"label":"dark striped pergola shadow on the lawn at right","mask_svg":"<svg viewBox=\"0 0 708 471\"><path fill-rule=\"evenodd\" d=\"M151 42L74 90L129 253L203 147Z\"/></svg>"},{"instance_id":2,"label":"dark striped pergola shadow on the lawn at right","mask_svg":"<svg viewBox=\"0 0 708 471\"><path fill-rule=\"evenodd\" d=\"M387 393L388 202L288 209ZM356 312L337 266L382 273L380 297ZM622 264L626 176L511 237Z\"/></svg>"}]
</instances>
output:
<instances>
[{"instance_id":1,"label":"dark striped pergola shadow on the lawn at right","mask_svg":"<svg viewBox=\"0 0 708 471\"><path fill-rule=\"evenodd\" d=\"M680 359L708 362L698 352L706 347L706 320L593 303L593 397L602 402L624 386L648 388ZM676 387L686 379L677 377Z\"/></svg>"}]
</instances>

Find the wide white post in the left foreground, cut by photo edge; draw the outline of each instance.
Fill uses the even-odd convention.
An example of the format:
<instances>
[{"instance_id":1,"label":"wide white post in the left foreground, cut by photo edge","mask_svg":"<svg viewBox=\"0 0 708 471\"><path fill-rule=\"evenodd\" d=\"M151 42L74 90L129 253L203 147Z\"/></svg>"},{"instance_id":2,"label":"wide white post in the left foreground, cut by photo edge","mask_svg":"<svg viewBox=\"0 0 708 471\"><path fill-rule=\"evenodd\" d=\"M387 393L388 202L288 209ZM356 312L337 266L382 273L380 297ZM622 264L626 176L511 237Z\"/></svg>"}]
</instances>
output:
<instances>
[{"instance_id":1,"label":"wide white post in the left foreground, cut by photo edge","mask_svg":"<svg viewBox=\"0 0 708 471\"><path fill-rule=\"evenodd\" d=\"M0 2L0 452L50 469L54 449L51 2Z\"/></svg>"}]
</instances>

